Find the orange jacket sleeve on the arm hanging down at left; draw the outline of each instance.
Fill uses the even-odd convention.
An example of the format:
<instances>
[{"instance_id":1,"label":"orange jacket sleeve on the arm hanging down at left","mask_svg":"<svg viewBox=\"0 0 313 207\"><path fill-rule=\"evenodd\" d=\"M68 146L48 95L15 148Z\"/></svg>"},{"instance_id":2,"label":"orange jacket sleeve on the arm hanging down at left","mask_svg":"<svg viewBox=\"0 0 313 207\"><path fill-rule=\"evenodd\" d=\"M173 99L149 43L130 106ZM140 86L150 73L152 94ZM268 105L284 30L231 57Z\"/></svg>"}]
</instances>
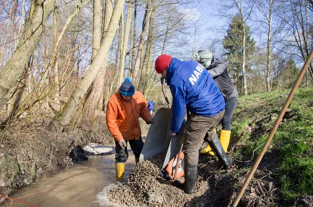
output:
<instances>
[{"instance_id":1,"label":"orange jacket sleeve on the arm hanging down at left","mask_svg":"<svg viewBox=\"0 0 313 207\"><path fill-rule=\"evenodd\" d=\"M112 97L114 98L114 97ZM112 134L114 139L118 142L123 139L123 136L117 125L117 114L118 114L118 106L114 103L114 101L110 98L107 106L106 113L106 121L109 132Z\"/></svg>"}]
</instances>

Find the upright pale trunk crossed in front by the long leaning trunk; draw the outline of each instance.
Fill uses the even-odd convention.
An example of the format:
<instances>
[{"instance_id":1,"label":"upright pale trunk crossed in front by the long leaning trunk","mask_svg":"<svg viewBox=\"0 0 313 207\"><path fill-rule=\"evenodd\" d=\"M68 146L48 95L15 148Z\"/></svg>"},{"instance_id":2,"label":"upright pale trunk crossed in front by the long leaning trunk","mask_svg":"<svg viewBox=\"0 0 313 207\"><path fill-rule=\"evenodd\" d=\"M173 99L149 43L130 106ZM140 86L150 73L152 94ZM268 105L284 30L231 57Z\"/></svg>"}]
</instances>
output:
<instances>
[{"instance_id":1,"label":"upright pale trunk crossed in front by the long leaning trunk","mask_svg":"<svg viewBox=\"0 0 313 207\"><path fill-rule=\"evenodd\" d=\"M106 28L105 28L106 29ZM94 21L93 21L93 51L91 55L91 62L95 59L101 42L101 0L94 0ZM105 60L106 61L106 60ZM101 71L94 81L91 93L87 99L84 115L87 117L93 117L96 110L102 110L103 105L103 88L101 88L102 78L101 75L105 71Z\"/></svg>"}]
</instances>

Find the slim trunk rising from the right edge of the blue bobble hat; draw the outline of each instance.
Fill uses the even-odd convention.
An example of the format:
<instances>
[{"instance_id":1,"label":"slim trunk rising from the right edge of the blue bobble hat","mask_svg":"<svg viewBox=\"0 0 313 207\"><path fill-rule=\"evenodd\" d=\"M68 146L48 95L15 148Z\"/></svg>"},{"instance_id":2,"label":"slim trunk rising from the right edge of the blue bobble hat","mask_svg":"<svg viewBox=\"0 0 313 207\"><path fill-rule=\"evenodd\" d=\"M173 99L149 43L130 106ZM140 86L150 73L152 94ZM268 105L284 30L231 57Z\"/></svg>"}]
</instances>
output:
<instances>
[{"instance_id":1,"label":"slim trunk rising from the right edge of the blue bobble hat","mask_svg":"<svg viewBox=\"0 0 313 207\"><path fill-rule=\"evenodd\" d=\"M136 62L135 62L135 66L134 66L134 72L133 72L133 75L131 78L131 82L133 82L133 83L137 82L137 75L138 75L139 67L140 67L140 60L141 60L141 55L142 55L142 50L143 50L143 44L144 44L145 34L147 31L148 19L150 16L150 12L148 13L148 8L149 8L149 3L147 3L147 5L145 7L145 13L144 13L143 20L142 20L142 31L140 34L140 42L139 42L139 47L138 47L138 51L137 51L137 57L136 57Z\"/></svg>"}]
</instances>

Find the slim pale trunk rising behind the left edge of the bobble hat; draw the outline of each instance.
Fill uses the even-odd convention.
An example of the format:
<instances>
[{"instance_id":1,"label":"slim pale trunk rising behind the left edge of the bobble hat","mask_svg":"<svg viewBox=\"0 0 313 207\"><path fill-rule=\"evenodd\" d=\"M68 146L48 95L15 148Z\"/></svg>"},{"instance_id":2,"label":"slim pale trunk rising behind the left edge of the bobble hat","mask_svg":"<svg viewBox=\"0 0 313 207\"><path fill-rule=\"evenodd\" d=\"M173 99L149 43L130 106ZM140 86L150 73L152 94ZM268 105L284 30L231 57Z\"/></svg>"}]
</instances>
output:
<instances>
[{"instance_id":1,"label":"slim pale trunk rising behind the left edge of the bobble hat","mask_svg":"<svg viewBox=\"0 0 313 207\"><path fill-rule=\"evenodd\" d=\"M130 33L131 17L132 17L132 2L129 2L128 3L126 25L125 25L124 42L122 43L122 47L121 47L122 51L121 51L121 59L120 59L119 81L117 82L118 86L121 85L122 82L123 82L123 74L124 74L124 67L125 67L125 57L126 57L126 50L127 50L129 33Z\"/></svg>"}]
</instances>

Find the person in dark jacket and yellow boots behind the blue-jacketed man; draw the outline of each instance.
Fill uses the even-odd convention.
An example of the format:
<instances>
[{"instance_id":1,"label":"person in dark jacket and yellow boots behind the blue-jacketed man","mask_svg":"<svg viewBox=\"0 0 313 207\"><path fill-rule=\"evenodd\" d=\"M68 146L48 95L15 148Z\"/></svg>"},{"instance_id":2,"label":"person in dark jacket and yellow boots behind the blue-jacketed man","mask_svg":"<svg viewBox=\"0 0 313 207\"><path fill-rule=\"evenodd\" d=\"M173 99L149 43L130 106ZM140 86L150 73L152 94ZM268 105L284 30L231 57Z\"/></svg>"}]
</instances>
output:
<instances>
[{"instance_id":1,"label":"person in dark jacket and yellow boots behind the blue-jacketed man","mask_svg":"<svg viewBox=\"0 0 313 207\"><path fill-rule=\"evenodd\" d=\"M207 69L224 97L226 107L224 116L221 120L222 130L220 131L219 140L224 148L224 151L227 152L231 131L230 122L232 114L237 106L238 91L231 82L226 64L215 58L211 52L208 50L199 50L198 53L194 55L193 59ZM214 155L209 145L205 149L201 150L200 153L209 153Z\"/></svg>"}]
</instances>

